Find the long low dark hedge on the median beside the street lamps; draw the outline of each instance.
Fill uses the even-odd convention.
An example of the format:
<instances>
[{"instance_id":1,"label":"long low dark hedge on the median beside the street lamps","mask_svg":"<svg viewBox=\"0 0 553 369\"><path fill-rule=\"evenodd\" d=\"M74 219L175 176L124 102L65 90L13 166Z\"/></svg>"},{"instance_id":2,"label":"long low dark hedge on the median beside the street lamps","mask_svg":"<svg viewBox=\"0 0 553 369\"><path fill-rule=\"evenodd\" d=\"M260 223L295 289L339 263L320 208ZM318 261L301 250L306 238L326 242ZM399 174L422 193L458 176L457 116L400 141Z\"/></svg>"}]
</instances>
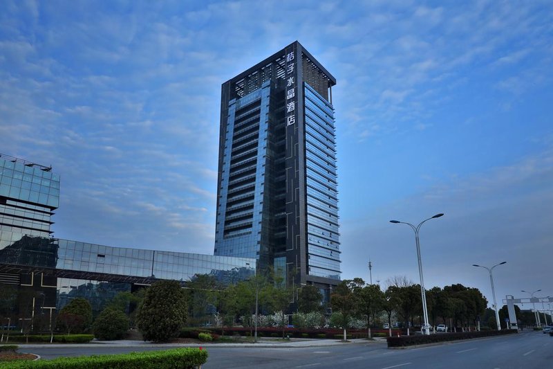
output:
<instances>
[{"instance_id":1,"label":"long low dark hedge on the median beside the street lamps","mask_svg":"<svg viewBox=\"0 0 553 369\"><path fill-rule=\"evenodd\" d=\"M406 347L412 345L424 345L427 343L439 343L446 341L457 341L460 339L478 339L480 337L500 336L503 334L517 333L517 330L491 330L491 331L474 331L474 332L458 332L458 333L438 333L438 334L416 334L414 336L391 336L386 339L388 348Z\"/></svg>"}]
</instances>

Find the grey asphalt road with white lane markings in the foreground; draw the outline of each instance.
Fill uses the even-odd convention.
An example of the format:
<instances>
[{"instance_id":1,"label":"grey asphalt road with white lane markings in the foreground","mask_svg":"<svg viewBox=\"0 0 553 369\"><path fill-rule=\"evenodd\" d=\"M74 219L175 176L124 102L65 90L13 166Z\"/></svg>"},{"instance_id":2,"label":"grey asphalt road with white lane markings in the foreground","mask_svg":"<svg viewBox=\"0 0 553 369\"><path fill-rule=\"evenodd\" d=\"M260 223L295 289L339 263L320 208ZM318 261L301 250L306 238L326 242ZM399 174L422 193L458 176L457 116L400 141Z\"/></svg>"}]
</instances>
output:
<instances>
[{"instance_id":1,"label":"grey asphalt road with white lane markings in the foreground","mask_svg":"<svg viewBox=\"0 0 553 369\"><path fill-rule=\"evenodd\" d=\"M352 343L307 348L209 347L203 369L214 368L348 368L348 369L509 369L551 368L553 337L541 332L523 332L489 339L431 345L420 348L388 349L386 343ZM164 348L91 347L27 349L44 359L83 354L115 354Z\"/></svg>"}]
</instances>

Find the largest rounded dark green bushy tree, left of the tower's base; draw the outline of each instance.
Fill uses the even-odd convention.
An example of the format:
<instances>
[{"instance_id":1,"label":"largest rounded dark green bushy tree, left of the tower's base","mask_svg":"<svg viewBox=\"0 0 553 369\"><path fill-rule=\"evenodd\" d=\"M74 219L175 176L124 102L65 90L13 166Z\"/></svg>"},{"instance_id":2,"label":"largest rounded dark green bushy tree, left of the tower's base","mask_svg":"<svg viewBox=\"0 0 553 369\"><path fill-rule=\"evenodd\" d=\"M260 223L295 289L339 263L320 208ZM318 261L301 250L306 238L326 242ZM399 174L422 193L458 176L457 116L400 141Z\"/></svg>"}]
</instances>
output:
<instances>
[{"instance_id":1,"label":"largest rounded dark green bushy tree, left of the tower's base","mask_svg":"<svg viewBox=\"0 0 553 369\"><path fill-rule=\"evenodd\" d=\"M144 340L167 341L185 326L187 312L187 298L180 283L161 280L147 289L138 307L138 329Z\"/></svg>"}]
</instances>

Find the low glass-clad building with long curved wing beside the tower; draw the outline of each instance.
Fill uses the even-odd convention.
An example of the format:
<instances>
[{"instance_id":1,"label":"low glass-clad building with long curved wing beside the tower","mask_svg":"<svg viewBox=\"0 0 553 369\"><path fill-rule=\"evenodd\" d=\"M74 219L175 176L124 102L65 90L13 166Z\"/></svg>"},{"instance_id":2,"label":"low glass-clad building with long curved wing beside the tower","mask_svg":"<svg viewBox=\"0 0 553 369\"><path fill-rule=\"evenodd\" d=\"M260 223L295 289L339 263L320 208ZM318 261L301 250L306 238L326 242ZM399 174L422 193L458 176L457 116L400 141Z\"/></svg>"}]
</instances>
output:
<instances>
[{"instance_id":1,"label":"low glass-clad building with long curved wing beside the tower","mask_svg":"<svg viewBox=\"0 0 553 369\"><path fill-rule=\"evenodd\" d=\"M95 313L121 291L156 280L184 286L198 274L229 285L254 275L256 260L112 247L53 237L59 175L52 168L0 155L0 299L17 291L0 318L30 319L87 298ZM0 304L0 309L7 309ZM2 323L2 322L0 322Z\"/></svg>"}]
</instances>

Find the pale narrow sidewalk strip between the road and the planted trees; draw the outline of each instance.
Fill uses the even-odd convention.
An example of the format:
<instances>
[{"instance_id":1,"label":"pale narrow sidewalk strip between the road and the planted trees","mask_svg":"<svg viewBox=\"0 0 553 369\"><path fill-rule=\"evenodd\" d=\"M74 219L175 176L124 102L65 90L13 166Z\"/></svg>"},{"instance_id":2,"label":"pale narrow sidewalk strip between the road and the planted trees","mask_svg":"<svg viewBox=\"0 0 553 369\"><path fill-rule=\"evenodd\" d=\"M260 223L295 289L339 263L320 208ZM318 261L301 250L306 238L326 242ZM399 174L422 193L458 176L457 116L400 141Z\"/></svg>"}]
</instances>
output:
<instances>
[{"instance_id":1,"label":"pale narrow sidewalk strip between the road and the planted trees","mask_svg":"<svg viewBox=\"0 0 553 369\"><path fill-rule=\"evenodd\" d=\"M151 343L149 341L92 341L91 343L39 343L39 344L19 344L20 349L32 348L91 348L91 347L126 347L126 348L198 348L202 347L207 350L211 347L224 348L307 348L307 347L325 347L337 345L352 345L352 344L378 344L385 343L386 339L375 338L375 341L367 341L366 339L350 339L348 342L339 341L337 339L290 339L290 341L280 341L277 339L268 339L265 337L259 338L257 343Z\"/></svg>"}]
</instances>

